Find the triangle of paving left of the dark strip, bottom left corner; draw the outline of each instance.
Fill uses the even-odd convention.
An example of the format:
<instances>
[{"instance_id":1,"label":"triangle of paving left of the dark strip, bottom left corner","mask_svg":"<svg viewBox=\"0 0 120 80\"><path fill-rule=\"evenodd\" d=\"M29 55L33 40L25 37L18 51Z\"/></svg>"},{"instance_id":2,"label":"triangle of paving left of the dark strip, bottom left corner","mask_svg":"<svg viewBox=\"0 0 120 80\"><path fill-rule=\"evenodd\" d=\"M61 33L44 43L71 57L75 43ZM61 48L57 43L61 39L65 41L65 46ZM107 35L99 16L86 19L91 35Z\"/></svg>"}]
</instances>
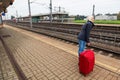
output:
<instances>
[{"instance_id":1,"label":"triangle of paving left of the dark strip, bottom left corner","mask_svg":"<svg viewBox=\"0 0 120 80\"><path fill-rule=\"evenodd\" d=\"M18 80L5 49L0 41L0 80Z\"/></svg>"}]
</instances>

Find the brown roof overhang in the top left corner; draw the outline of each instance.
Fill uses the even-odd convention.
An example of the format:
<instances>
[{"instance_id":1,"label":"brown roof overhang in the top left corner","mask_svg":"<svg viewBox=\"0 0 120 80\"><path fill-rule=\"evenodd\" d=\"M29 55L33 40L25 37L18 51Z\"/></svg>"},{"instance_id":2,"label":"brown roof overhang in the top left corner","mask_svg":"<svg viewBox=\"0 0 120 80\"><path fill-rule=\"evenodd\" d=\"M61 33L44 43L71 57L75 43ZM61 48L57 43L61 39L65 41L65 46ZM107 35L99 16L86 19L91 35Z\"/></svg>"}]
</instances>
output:
<instances>
[{"instance_id":1,"label":"brown roof overhang in the top left corner","mask_svg":"<svg viewBox=\"0 0 120 80\"><path fill-rule=\"evenodd\" d=\"M6 12L6 8L9 6L9 5L12 5L14 2L14 0L0 0L0 13L1 12Z\"/></svg>"}]
</instances>

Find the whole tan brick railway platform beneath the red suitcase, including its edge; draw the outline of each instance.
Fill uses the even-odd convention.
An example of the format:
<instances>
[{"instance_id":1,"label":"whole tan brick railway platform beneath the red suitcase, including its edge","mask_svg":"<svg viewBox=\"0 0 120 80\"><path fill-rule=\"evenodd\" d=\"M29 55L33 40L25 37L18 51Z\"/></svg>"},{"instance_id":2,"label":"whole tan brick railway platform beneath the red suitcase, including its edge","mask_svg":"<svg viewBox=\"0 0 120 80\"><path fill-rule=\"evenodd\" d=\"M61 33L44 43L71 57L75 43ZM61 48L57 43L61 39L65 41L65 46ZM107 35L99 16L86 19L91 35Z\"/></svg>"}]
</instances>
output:
<instances>
[{"instance_id":1,"label":"whole tan brick railway platform beneath the red suitcase, including its edge","mask_svg":"<svg viewBox=\"0 0 120 80\"><path fill-rule=\"evenodd\" d=\"M120 80L119 58L95 51L94 70L84 77L78 70L78 47L75 44L4 26L0 33L10 35L4 41L27 80ZM0 48L0 63L9 67L0 64L0 80L18 80L1 42Z\"/></svg>"}]
</instances>

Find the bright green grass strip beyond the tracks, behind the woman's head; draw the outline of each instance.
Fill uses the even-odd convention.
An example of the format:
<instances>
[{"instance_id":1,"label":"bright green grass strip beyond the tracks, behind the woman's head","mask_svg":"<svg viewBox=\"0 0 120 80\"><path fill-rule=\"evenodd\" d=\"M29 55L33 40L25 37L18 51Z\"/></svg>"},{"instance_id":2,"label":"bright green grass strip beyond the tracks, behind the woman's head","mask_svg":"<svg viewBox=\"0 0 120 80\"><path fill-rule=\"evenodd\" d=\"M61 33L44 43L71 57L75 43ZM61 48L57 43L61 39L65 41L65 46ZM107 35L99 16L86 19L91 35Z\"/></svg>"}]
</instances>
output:
<instances>
[{"instance_id":1,"label":"bright green grass strip beyond the tracks, behind the woman's head","mask_svg":"<svg viewBox=\"0 0 120 80\"><path fill-rule=\"evenodd\" d=\"M75 20L75 23L85 23L86 20ZM95 24L120 24L120 20L95 20Z\"/></svg>"}]
</instances>

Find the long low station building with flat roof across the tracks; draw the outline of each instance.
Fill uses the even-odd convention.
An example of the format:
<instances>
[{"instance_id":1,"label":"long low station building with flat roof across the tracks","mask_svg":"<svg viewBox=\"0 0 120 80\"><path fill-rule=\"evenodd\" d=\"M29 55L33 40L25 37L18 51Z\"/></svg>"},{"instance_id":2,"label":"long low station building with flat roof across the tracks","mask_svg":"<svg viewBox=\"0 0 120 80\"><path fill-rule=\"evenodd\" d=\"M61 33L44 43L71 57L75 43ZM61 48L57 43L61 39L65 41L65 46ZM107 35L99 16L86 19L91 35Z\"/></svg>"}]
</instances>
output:
<instances>
[{"instance_id":1,"label":"long low station building with flat roof across the tracks","mask_svg":"<svg viewBox=\"0 0 120 80\"><path fill-rule=\"evenodd\" d=\"M33 22L49 22L50 21L50 14L39 14L32 16ZM68 18L68 13L52 13L52 21L53 22L66 22ZM19 21L29 22L29 17L20 17Z\"/></svg>"}]
</instances>

